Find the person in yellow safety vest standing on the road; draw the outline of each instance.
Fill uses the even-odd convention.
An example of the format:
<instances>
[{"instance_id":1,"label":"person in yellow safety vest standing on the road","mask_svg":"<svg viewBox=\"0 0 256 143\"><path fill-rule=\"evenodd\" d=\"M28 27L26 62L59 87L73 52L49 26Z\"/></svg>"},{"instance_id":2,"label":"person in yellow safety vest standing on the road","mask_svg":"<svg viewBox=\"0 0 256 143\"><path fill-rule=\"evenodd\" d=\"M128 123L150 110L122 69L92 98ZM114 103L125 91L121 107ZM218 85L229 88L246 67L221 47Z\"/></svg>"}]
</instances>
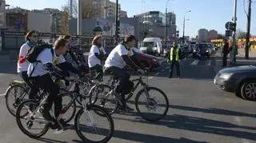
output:
<instances>
[{"instance_id":1,"label":"person in yellow safety vest standing on the road","mask_svg":"<svg viewBox=\"0 0 256 143\"><path fill-rule=\"evenodd\" d=\"M173 46L170 48L169 56L167 56L167 62L170 62L170 74L169 78L172 77L174 66L176 66L176 73L178 77L180 77L180 70L179 70L179 60L182 57L182 52L178 48L178 45L176 42L173 43Z\"/></svg>"}]
</instances>

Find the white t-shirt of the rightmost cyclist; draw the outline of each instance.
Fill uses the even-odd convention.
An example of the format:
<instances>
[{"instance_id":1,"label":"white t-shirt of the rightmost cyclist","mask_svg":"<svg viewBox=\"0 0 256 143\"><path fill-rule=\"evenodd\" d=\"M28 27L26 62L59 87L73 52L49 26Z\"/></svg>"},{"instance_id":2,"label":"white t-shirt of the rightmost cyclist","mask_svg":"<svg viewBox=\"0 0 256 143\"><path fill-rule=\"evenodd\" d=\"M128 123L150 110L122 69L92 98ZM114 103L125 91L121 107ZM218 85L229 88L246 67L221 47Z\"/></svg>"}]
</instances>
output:
<instances>
[{"instance_id":1,"label":"white t-shirt of the rightmost cyclist","mask_svg":"<svg viewBox=\"0 0 256 143\"><path fill-rule=\"evenodd\" d=\"M126 62L121 56L128 55L129 57L134 55L132 50L126 50L126 47L119 44L110 52L110 55L106 58L105 67L116 66L118 68L124 68Z\"/></svg>"}]
</instances>

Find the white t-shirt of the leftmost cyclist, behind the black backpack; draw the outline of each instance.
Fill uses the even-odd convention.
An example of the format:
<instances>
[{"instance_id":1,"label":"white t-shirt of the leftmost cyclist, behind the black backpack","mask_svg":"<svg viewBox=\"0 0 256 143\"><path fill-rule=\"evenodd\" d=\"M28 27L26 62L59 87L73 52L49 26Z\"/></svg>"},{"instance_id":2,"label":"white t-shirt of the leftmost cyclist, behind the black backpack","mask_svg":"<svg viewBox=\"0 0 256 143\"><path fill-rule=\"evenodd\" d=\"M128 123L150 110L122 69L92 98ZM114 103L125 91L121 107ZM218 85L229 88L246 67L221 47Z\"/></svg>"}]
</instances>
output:
<instances>
[{"instance_id":1,"label":"white t-shirt of the leftmost cyclist, behind the black backpack","mask_svg":"<svg viewBox=\"0 0 256 143\"><path fill-rule=\"evenodd\" d=\"M19 50L18 58L21 58L21 57L26 58L26 54L29 50L30 50L30 46L27 43L23 44L21 49ZM29 65L30 65L30 62L28 62L27 60L24 62L18 62L17 72L21 73L23 71L27 71L27 68L29 67Z\"/></svg>"}]
</instances>

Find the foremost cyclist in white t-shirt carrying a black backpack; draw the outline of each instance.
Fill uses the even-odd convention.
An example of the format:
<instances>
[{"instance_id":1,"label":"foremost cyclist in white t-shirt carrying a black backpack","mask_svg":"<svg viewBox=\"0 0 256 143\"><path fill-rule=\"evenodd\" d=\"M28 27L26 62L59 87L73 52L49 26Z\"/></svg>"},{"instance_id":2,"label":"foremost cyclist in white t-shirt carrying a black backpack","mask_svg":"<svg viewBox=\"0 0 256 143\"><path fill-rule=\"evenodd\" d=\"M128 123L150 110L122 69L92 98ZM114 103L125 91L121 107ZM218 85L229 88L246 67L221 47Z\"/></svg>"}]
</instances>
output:
<instances>
[{"instance_id":1,"label":"foremost cyclist in white t-shirt carrying a black backpack","mask_svg":"<svg viewBox=\"0 0 256 143\"><path fill-rule=\"evenodd\" d=\"M59 86L54 83L51 75L59 79L66 78L61 72L59 72L59 70L54 68L54 65L65 62L65 58L63 58L62 55L66 53L67 48L68 42L63 38L58 39L54 43L54 55L50 48L42 50L42 52L38 54L37 61L39 62L30 63L28 68L27 73L30 75L30 81L33 85L31 92L36 93L38 88L41 87L42 89L46 89L49 93L46 103L43 105L43 108L40 109L42 117L44 117L46 121L54 121L54 118L50 115L50 109L53 103L55 117L58 117L62 110L62 97L58 96ZM66 124L64 120L61 120L60 122L65 129L70 127L70 125Z\"/></svg>"}]
</instances>

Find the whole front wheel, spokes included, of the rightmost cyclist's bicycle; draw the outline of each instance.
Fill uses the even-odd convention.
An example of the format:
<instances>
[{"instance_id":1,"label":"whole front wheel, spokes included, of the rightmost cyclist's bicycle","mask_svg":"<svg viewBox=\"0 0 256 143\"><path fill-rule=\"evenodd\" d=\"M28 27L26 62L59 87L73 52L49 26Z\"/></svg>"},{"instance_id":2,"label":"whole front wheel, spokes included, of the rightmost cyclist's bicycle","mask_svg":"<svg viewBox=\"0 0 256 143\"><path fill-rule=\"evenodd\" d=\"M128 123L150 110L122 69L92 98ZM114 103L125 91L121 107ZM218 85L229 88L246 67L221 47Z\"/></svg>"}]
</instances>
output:
<instances>
[{"instance_id":1,"label":"whole front wheel, spokes included, of the rightmost cyclist's bicycle","mask_svg":"<svg viewBox=\"0 0 256 143\"><path fill-rule=\"evenodd\" d=\"M144 96L142 94L144 93ZM146 93L149 98L146 97ZM155 95L155 96L154 96ZM139 101L142 97L142 101ZM159 103L162 99L163 102ZM140 90L135 97L135 106L138 113L146 120L146 121L158 121L166 116L166 113L169 109L169 101L164 92L161 89L157 89L155 87L147 87L146 92L144 89ZM142 109L145 111L142 111ZM156 113L158 110L161 110L160 113Z\"/></svg>"}]
</instances>

